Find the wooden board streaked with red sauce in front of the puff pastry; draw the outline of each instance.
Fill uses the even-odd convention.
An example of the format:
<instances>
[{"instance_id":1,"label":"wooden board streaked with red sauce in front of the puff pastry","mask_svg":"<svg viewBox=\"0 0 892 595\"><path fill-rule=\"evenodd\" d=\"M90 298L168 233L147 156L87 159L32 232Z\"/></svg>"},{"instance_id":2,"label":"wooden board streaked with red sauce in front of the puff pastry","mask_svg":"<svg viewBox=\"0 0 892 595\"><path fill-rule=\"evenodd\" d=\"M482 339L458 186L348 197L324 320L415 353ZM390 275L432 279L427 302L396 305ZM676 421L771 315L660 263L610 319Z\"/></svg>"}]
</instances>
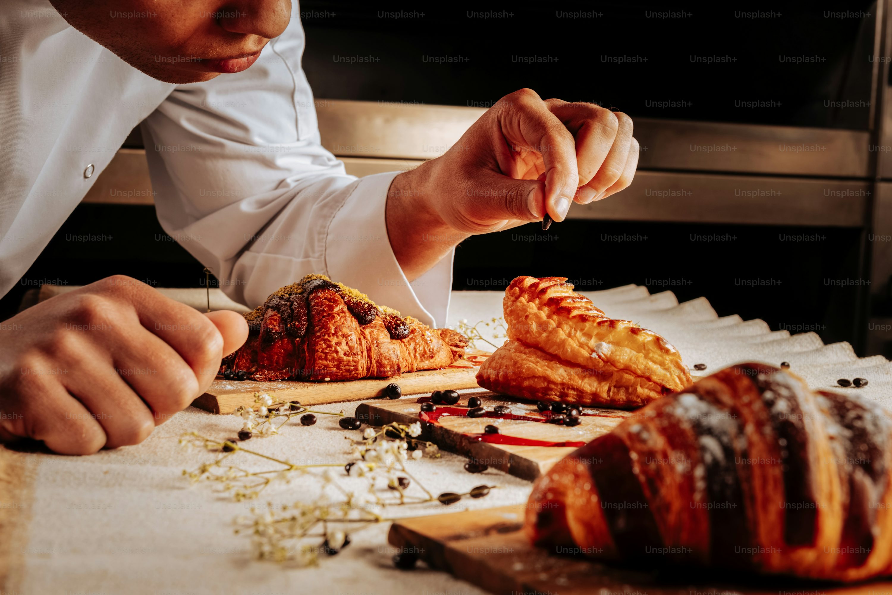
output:
<instances>
[{"instance_id":1,"label":"wooden board streaked with red sauce in front of the puff pastry","mask_svg":"<svg viewBox=\"0 0 892 595\"><path fill-rule=\"evenodd\" d=\"M533 403L517 402L504 395L489 392L462 394L457 407L467 405L467 398L470 396L480 397L483 407L487 410L496 405L508 405L517 415L540 417ZM418 421L420 407L417 398L362 403L356 408L356 417L373 426L383 426L392 422L412 424ZM632 415L630 411L618 409L585 408L583 412L593 415L583 415L582 423L574 427L534 421L497 420L491 417L441 417L439 423L423 427L420 438L434 442L443 450L458 453L505 473L533 481L578 446L493 444L478 442L477 435L483 434L483 428L492 424L499 426L500 434L518 438L584 443L594 440L601 434L607 434L626 417Z\"/></svg>"}]
</instances>

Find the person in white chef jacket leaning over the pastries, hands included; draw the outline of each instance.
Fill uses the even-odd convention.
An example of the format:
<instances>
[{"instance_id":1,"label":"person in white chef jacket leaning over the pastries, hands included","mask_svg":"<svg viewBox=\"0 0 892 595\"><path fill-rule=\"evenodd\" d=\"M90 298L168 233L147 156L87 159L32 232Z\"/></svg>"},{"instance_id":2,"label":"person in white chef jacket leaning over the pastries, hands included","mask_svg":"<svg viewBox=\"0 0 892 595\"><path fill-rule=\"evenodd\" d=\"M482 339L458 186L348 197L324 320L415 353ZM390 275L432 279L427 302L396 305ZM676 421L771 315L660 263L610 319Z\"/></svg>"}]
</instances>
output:
<instances>
[{"instance_id":1,"label":"person in white chef jacket leaning over the pastries, hands included","mask_svg":"<svg viewBox=\"0 0 892 595\"><path fill-rule=\"evenodd\" d=\"M485 112L460 150L348 176L319 143L303 46L289 0L4 0L0 294L140 123L161 226L251 307L322 273L442 325L458 242L563 220L632 181L628 116L530 89ZM246 335L235 312L123 276L37 304L0 328L0 440L67 454L141 442Z\"/></svg>"}]
</instances>

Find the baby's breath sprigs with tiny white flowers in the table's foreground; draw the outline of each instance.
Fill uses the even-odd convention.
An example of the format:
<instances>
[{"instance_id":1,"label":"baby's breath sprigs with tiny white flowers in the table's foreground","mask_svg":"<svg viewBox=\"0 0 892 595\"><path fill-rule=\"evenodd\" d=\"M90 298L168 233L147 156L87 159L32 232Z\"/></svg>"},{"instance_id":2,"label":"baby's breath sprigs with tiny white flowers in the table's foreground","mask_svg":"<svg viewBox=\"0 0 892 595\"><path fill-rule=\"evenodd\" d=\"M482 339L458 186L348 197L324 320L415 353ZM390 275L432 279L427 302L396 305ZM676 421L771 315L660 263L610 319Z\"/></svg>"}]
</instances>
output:
<instances>
[{"instance_id":1,"label":"baby's breath sprigs with tiny white flowers in the table's foreground","mask_svg":"<svg viewBox=\"0 0 892 595\"><path fill-rule=\"evenodd\" d=\"M269 410L269 405L265 407ZM277 417L285 417L278 427L284 426L290 418L287 412L277 414ZM267 416L265 421L269 426L272 426L273 418ZM260 423L254 427L257 426ZM295 475L306 481L316 480L320 490L315 500L299 500L279 509L274 509L271 503L262 510L254 507L251 517L236 518L238 527L235 530L235 533L252 534L261 559L290 561L301 566L316 565L320 552L333 556L350 545L352 533L392 521L384 514L388 507L429 502L450 505L465 496L483 498L496 487L478 485L469 492L445 492L434 496L405 465L410 458L421 459L425 454L431 458L440 457L437 446L419 440L419 435L419 422L410 425L392 423L367 427L359 440L348 438L353 445L354 460L343 469L350 478L352 489L340 483L332 468L342 467L341 463L296 465L287 459L245 448L244 441L215 440L197 432L183 434L180 443L187 448L200 447L219 453L219 457L192 471L184 470L183 475L192 483L219 483L222 491L232 492L236 501L257 499L271 483L277 480L290 483ZM235 465L233 457L238 453L267 460L275 467L250 471ZM357 483L359 489L356 489ZM417 488L413 488L413 484ZM303 481L301 485L306 487ZM411 493L413 491L422 493ZM306 493L305 490L301 492Z\"/></svg>"}]
</instances>

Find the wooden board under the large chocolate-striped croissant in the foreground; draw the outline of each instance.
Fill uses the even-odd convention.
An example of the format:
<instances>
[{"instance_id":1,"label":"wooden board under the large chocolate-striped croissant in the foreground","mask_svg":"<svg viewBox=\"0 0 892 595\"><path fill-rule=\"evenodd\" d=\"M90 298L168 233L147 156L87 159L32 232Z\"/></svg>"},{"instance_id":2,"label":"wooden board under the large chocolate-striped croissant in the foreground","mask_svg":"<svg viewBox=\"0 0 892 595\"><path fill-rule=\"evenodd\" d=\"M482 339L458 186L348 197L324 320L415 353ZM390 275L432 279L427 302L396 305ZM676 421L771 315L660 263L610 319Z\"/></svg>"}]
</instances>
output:
<instances>
[{"instance_id":1,"label":"wooden board under the large chocolate-striped croissant in the foreground","mask_svg":"<svg viewBox=\"0 0 892 595\"><path fill-rule=\"evenodd\" d=\"M457 506L457 505L452 505ZM460 504L458 505L460 506ZM888 595L892 583L835 587L780 577L668 569L619 568L593 560L558 556L534 548L522 530L524 505L469 510L396 521L388 541L416 552L428 566L444 570L499 595L733 595L735 592L798 595Z\"/></svg>"}]
</instances>

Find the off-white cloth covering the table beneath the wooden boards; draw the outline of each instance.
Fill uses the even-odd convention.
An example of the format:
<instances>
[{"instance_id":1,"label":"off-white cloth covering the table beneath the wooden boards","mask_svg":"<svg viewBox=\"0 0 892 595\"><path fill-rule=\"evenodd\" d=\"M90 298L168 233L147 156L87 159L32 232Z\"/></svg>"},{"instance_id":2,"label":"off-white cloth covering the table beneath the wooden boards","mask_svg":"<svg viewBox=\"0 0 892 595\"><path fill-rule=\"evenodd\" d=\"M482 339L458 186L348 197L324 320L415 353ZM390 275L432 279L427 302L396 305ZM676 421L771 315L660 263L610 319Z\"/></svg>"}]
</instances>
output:
<instances>
[{"instance_id":1,"label":"off-white cloth covering the table beneath the wooden boards","mask_svg":"<svg viewBox=\"0 0 892 595\"><path fill-rule=\"evenodd\" d=\"M789 335L762 320L719 318L705 298L678 303L671 292L649 294L626 285L583 292L612 318L646 326L673 343L698 374L744 360L772 364L789 361L792 371L813 388L838 388L836 379L863 376L870 384L859 394L888 406L892 364L880 356L858 359L847 343L824 345L814 333ZM501 292L454 292L450 325L501 315ZM490 332L491 326L480 325ZM500 339L491 338L500 344ZM485 347L485 345L478 345ZM314 409L348 415L357 402ZM315 426L287 426L251 445L293 463L343 463L350 446L335 417L319 416ZM351 546L317 567L298 568L256 559L250 535L235 534L234 520L252 507L277 506L310 497L300 480L270 486L261 500L235 502L211 486L191 486L182 476L213 459L211 453L185 450L179 437L196 430L227 438L241 426L235 416L213 416L190 408L159 426L144 443L90 457L0 450L0 591L4 593L153 593L274 595L293 592L398 595L401 593L481 593L450 575L419 567L393 568L387 525L355 534ZM357 434L358 435L358 434ZM238 457L247 457L239 453ZM241 462L241 461L240 461ZM465 459L410 460L410 472L436 493L467 492L481 484L498 490L480 500L449 508L438 503L395 507L391 517L455 512L523 503L531 484L497 471L468 474ZM252 462L244 460L245 466ZM268 468L268 467L266 467ZM344 480L351 481L351 480Z\"/></svg>"}]
</instances>

